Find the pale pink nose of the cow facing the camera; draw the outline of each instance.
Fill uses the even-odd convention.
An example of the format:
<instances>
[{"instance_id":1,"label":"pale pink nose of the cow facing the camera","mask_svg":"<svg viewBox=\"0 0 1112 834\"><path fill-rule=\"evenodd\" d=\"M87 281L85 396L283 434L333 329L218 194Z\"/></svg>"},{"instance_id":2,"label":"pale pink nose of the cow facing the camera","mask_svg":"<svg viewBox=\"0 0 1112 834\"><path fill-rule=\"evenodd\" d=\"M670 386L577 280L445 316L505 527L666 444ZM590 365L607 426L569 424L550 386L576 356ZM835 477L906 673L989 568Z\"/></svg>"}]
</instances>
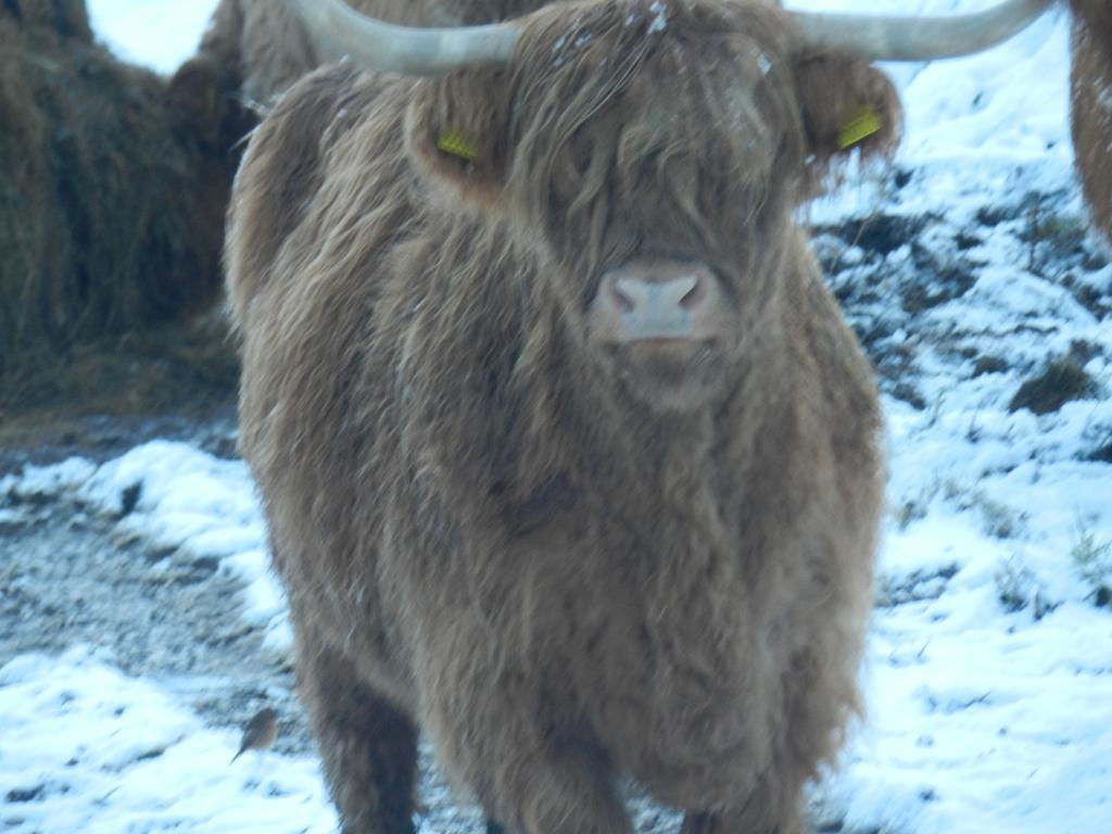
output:
<instances>
[{"instance_id":1,"label":"pale pink nose of the cow facing the camera","mask_svg":"<svg viewBox=\"0 0 1112 834\"><path fill-rule=\"evenodd\" d=\"M634 258L603 276L590 309L606 340L697 340L711 338L718 282L702 264Z\"/></svg>"}]
</instances>

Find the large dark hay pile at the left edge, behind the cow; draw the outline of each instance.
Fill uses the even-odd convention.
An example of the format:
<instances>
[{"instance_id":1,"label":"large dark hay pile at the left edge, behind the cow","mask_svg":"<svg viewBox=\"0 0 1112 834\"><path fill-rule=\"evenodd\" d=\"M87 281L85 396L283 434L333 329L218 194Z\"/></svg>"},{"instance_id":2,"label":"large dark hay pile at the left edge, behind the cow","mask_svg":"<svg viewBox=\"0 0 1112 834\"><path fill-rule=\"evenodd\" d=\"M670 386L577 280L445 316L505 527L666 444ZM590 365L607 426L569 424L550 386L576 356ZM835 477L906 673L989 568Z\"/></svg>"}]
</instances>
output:
<instances>
[{"instance_id":1,"label":"large dark hay pile at the left edge, behind the cow","mask_svg":"<svg viewBox=\"0 0 1112 834\"><path fill-rule=\"evenodd\" d=\"M82 0L0 4L0 407L216 295L234 168L166 95L93 44Z\"/></svg>"}]
</instances>

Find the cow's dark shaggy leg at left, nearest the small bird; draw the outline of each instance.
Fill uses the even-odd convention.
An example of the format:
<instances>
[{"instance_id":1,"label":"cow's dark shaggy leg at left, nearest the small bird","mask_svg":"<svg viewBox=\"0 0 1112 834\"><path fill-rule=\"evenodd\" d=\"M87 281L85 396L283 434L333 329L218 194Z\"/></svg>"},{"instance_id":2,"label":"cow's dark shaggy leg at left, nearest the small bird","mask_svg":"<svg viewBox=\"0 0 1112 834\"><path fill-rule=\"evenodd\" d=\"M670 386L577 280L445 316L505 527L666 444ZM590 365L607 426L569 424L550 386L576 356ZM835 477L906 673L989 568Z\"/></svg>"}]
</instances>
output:
<instances>
[{"instance_id":1,"label":"cow's dark shaggy leg at left, nearest the small bird","mask_svg":"<svg viewBox=\"0 0 1112 834\"><path fill-rule=\"evenodd\" d=\"M417 728L338 652L304 643L298 681L344 834L411 834Z\"/></svg>"}]
</instances>

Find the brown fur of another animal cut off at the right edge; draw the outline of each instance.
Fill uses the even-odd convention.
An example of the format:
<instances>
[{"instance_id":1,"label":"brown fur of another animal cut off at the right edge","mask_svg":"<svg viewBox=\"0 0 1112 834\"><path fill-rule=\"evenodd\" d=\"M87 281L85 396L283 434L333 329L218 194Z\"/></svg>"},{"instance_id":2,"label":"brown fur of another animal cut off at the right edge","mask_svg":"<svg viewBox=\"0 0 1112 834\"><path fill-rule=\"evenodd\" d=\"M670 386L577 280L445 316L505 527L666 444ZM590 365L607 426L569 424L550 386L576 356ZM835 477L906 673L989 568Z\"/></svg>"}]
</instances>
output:
<instances>
[{"instance_id":1,"label":"brown fur of another animal cut off at the right edge","mask_svg":"<svg viewBox=\"0 0 1112 834\"><path fill-rule=\"evenodd\" d=\"M1112 6L1072 0L1073 147L1093 219L1112 239Z\"/></svg>"}]
</instances>

